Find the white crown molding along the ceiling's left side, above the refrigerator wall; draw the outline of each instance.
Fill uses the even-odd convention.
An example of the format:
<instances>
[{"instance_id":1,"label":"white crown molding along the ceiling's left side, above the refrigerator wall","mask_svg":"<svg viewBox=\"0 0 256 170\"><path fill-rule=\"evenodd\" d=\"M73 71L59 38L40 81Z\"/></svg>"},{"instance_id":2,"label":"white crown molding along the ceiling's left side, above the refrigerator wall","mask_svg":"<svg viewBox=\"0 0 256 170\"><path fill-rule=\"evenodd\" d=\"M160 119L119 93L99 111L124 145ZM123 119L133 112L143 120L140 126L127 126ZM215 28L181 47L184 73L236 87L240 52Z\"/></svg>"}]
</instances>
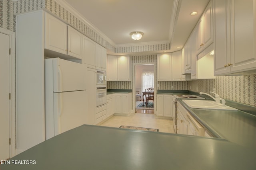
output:
<instances>
[{"instance_id":1,"label":"white crown molding along the ceiling's left side, above the refrigerator wall","mask_svg":"<svg viewBox=\"0 0 256 170\"><path fill-rule=\"evenodd\" d=\"M93 29L102 38L106 39L106 41L108 41L109 43L114 45L114 47L116 47L116 44L109 37L107 37L104 33L102 33L100 31L100 29L98 29L96 26L94 26L90 21L88 21L86 18L84 18L84 16L82 16L82 14L80 14L75 8L70 6L70 4L68 4L68 2L66 2L65 0L55 0L55 1L58 2L63 8L68 10L71 14L73 14L76 18L78 18L82 22L86 23L87 26L89 26L91 29Z\"/></svg>"}]
</instances>

